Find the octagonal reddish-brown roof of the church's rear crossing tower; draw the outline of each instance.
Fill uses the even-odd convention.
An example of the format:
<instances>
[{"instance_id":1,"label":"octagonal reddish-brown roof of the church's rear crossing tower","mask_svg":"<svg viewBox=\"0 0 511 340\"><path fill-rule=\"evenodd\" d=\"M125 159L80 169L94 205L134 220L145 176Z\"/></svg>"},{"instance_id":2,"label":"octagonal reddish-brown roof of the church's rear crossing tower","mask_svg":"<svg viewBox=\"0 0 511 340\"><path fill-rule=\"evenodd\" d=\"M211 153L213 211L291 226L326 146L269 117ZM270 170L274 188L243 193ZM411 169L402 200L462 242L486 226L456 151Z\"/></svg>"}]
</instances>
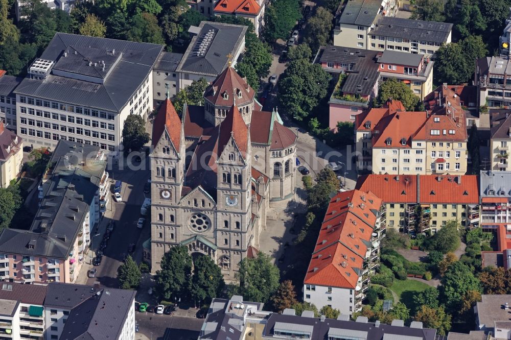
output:
<instances>
[{"instance_id":1,"label":"octagonal reddish-brown roof of the church's rear crossing tower","mask_svg":"<svg viewBox=\"0 0 511 340\"><path fill-rule=\"evenodd\" d=\"M220 4L220 2L217 4ZM224 93L227 99L224 99ZM241 95L241 98L240 98ZM231 107L234 105L246 105L252 103L255 92L248 83L234 70L227 67L213 83L206 88L204 98L213 105Z\"/></svg>"}]
</instances>

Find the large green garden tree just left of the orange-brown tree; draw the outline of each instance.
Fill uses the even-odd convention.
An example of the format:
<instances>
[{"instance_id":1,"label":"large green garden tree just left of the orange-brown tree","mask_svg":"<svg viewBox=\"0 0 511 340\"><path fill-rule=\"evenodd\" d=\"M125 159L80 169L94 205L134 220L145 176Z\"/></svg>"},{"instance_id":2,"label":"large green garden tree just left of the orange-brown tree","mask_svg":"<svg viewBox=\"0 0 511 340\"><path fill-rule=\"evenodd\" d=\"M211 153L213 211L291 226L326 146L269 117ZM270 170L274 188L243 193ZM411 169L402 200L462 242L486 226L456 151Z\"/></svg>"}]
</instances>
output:
<instances>
[{"instance_id":1,"label":"large green garden tree just left of the orange-brown tree","mask_svg":"<svg viewBox=\"0 0 511 340\"><path fill-rule=\"evenodd\" d=\"M440 298L448 311L458 311L462 305L463 296L469 290L480 292L480 282L470 268L459 261L454 262L442 277Z\"/></svg>"}]
</instances>

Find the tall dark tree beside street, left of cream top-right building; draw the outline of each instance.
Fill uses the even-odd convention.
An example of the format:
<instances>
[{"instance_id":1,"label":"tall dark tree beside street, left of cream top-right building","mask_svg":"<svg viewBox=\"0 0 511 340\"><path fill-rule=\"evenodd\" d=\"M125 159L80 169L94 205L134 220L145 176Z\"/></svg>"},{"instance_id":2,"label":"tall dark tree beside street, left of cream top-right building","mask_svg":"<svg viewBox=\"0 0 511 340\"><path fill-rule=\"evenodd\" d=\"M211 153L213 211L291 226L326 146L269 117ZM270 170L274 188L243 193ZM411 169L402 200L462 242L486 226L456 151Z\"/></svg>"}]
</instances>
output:
<instances>
[{"instance_id":1,"label":"tall dark tree beside street, left of cream top-right building","mask_svg":"<svg viewBox=\"0 0 511 340\"><path fill-rule=\"evenodd\" d=\"M317 51L319 46L324 46L328 43L333 19L334 16L329 10L324 7L319 7L316 10L316 14L307 21L304 42L308 44L313 51Z\"/></svg>"}]
</instances>

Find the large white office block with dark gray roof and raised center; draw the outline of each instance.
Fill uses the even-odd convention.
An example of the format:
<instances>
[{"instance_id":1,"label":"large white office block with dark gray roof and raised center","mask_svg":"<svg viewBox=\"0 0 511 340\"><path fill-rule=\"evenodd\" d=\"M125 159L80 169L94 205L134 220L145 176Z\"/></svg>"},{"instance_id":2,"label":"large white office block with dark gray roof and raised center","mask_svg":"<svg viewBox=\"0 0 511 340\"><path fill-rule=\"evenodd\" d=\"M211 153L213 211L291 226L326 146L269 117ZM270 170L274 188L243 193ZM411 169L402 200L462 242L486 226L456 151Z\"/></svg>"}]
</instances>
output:
<instances>
[{"instance_id":1,"label":"large white office block with dark gray roof and raised center","mask_svg":"<svg viewBox=\"0 0 511 340\"><path fill-rule=\"evenodd\" d=\"M124 120L152 111L152 69L163 46L56 33L16 87L17 134L117 151Z\"/></svg>"}]
</instances>

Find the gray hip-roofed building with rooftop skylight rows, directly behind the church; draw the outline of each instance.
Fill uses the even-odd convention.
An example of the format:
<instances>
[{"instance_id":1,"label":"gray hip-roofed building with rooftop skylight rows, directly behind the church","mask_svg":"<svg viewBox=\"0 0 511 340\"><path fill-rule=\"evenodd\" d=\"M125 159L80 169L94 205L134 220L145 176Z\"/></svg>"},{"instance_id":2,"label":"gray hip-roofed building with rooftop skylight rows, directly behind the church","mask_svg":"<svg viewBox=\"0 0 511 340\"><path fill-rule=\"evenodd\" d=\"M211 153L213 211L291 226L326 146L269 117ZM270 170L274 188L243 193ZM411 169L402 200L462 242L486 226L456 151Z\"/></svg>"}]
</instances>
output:
<instances>
[{"instance_id":1,"label":"gray hip-roofed building with rooftop skylight rows, directly behind the church","mask_svg":"<svg viewBox=\"0 0 511 340\"><path fill-rule=\"evenodd\" d=\"M201 21L192 28L196 35L176 67L179 89L200 78L211 83L229 65L234 67L245 50L246 26Z\"/></svg>"}]
</instances>

